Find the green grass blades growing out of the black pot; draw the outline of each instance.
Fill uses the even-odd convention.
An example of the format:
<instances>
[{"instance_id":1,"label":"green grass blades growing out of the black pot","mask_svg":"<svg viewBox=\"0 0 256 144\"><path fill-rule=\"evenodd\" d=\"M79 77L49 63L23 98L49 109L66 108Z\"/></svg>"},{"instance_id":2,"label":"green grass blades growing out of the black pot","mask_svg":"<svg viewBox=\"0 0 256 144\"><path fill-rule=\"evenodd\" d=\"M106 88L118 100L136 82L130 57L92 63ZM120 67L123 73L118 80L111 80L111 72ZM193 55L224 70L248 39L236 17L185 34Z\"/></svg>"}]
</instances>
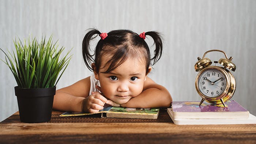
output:
<instances>
[{"instance_id":1,"label":"green grass blades growing out of the black pot","mask_svg":"<svg viewBox=\"0 0 256 144\"><path fill-rule=\"evenodd\" d=\"M60 77L68 66L72 56L68 56L71 50L63 57L64 47L58 49L57 41L53 43L50 36L46 41L42 37L38 42L30 37L24 43L15 39L15 50L5 53L5 64L8 65L19 88L49 88L54 87L59 82Z\"/></svg>"}]
</instances>

